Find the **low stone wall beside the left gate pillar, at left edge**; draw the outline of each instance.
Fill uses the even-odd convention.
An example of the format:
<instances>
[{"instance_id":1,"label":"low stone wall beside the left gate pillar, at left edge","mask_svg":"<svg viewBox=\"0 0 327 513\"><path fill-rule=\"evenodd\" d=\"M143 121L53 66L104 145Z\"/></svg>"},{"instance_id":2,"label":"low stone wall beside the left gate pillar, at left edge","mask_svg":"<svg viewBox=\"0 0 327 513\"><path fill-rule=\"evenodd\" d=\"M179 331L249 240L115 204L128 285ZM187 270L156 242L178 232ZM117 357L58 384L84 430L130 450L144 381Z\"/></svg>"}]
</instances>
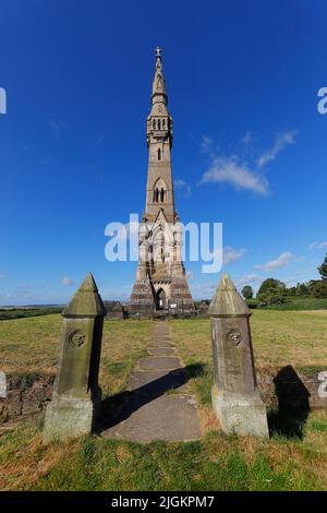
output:
<instances>
[{"instance_id":1,"label":"low stone wall beside the left gate pillar, at left edge","mask_svg":"<svg viewBox=\"0 0 327 513\"><path fill-rule=\"evenodd\" d=\"M7 374L7 397L0 398L0 423L41 413L52 396L53 374Z\"/></svg>"}]
</instances>

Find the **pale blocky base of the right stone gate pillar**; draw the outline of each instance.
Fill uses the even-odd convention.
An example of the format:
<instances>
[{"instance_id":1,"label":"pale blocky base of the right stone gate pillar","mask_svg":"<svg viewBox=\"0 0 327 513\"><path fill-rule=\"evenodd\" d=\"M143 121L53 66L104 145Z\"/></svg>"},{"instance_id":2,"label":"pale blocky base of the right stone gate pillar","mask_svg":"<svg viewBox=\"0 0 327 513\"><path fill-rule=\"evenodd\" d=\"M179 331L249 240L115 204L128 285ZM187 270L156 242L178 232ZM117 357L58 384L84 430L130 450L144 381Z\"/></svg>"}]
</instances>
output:
<instances>
[{"instance_id":1,"label":"pale blocky base of the right stone gate pillar","mask_svg":"<svg viewBox=\"0 0 327 513\"><path fill-rule=\"evenodd\" d=\"M269 438L267 411L259 393L235 394L211 389L213 407L227 434Z\"/></svg>"}]
</instances>

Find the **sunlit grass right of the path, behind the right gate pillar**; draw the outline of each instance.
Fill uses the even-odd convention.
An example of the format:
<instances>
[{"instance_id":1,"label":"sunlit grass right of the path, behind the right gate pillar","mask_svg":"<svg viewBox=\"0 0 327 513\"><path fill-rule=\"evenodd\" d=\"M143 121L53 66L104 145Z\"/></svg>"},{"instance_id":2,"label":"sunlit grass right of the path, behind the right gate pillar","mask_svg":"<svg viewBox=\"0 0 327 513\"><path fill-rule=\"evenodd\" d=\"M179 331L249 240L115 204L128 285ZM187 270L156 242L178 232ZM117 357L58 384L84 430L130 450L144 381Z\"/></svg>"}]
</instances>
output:
<instances>
[{"instance_id":1,"label":"sunlit grass right of the path, behind the right gate pillar","mask_svg":"<svg viewBox=\"0 0 327 513\"><path fill-rule=\"evenodd\" d=\"M251 329L256 366L327 369L326 326L325 310L254 310ZM209 319L175 320L170 331L185 365L211 366Z\"/></svg>"}]
</instances>

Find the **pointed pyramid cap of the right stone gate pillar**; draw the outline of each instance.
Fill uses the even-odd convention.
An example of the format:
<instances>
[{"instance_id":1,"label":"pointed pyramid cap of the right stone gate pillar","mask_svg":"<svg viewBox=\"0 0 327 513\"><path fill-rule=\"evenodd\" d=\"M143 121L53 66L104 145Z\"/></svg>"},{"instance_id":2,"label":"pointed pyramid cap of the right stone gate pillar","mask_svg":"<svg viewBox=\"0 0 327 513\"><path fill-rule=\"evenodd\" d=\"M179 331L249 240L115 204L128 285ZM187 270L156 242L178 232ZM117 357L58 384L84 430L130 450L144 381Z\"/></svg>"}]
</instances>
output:
<instances>
[{"instance_id":1,"label":"pointed pyramid cap of the right stone gate pillar","mask_svg":"<svg viewBox=\"0 0 327 513\"><path fill-rule=\"evenodd\" d=\"M250 317L251 310L225 273L210 302L208 312L218 317Z\"/></svg>"}]
</instances>

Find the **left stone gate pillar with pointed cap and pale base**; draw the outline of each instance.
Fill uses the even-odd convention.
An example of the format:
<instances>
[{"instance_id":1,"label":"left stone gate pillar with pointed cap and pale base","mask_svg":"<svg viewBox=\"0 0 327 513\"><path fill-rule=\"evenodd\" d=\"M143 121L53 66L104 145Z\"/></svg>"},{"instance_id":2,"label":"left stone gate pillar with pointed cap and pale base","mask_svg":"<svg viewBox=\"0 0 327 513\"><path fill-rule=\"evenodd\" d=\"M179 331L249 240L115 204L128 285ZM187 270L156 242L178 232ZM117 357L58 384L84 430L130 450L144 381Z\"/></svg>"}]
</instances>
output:
<instances>
[{"instance_id":1,"label":"left stone gate pillar with pointed cap and pale base","mask_svg":"<svg viewBox=\"0 0 327 513\"><path fill-rule=\"evenodd\" d=\"M63 327L52 401L44 441L87 434L97 417L98 373L106 309L90 273L62 312Z\"/></svg>"}]
</instances>

